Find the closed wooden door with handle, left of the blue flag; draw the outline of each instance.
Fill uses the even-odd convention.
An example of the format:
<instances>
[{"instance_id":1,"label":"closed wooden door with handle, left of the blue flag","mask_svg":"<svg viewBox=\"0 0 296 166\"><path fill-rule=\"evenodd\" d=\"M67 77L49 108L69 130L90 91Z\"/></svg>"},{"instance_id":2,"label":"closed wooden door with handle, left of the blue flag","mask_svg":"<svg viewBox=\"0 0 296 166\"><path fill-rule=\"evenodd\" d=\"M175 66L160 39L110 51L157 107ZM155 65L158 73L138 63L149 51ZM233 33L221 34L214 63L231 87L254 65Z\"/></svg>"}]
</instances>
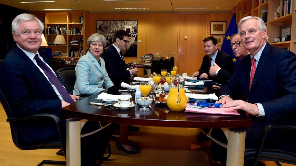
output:
<instances>
[{"instance_id":1,"label":"closed wooden door with handle, left of the blue flag","mask_svg":"<svg viewBox=\"0 0 296 166\"><path fill-rule=\"evenodd\" d=\"M204 38L207 37L207 15L180 15L178 74L192 76L202 63Z\"/></svg>"}]
</instances>

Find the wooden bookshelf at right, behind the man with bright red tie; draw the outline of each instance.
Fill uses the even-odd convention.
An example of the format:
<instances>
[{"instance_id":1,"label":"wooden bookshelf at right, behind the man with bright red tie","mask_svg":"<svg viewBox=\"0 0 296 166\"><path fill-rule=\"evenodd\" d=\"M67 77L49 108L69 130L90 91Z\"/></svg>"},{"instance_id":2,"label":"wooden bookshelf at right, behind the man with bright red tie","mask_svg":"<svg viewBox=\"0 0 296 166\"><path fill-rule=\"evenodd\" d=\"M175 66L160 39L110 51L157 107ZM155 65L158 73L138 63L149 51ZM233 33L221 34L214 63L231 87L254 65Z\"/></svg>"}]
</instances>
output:
<instances>
[{"instance_id":1,"label":"wooden bookshelf at right, behind the man with bright red tie","mask_svg":"<svg viewBox=\"0 0 296 166\"><path fill-rule=\"evenodd\" d=\"M286 6L288 2L286 2ZM295 8L296 0L290 1L291 10L290 13L284 13L284 4L285 0L241 0L235 6L236 12L236 21L238 22L245 16L252 15L258 16L261 18L262 12L267 11L267 35L269 36L268 43L274 45L276 47L281 47L285 49L289 49L290 51L296 53L296 8ZM250 8L251 6L251 8ZM276 8L280 6L280 13L278 18L274 18L274 12ZM251 11L250 11L251 10ZM276 42L274 43L274 38L279 37L280 40L283 37L282 31L283 29L291 29L291 40L284 42Z\"/></svg>"}]
</instances>

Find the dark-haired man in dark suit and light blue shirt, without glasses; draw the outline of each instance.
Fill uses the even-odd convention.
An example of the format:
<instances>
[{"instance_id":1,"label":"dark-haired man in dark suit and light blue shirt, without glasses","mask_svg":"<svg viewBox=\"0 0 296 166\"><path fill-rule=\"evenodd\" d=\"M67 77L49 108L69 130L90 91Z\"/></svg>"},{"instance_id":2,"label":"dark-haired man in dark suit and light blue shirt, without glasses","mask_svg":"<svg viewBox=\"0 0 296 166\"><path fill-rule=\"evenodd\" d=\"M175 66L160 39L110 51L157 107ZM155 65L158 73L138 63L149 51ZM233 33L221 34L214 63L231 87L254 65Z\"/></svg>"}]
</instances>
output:
<instances>
[{"instance_id":1,"label":"dark-haired man in dark suit and light blue shirt, without glasses","mask_svg":"<svg viewBox=\"0 0 296 166\"><path fill-rule=\"evenodd\" d=\"M218 42L215 37L209 36L205 38L203 41L204 52L206 53L206 55L203 57L203 62L201 64L200 69L197 72L193 73L192 77L199 76L200 79L214 80L217 83L223 84L227 80L220 76L210 76L210 67L214 66L214 64L217 64L220 66L220 69L222 68L228 71L229 73L233 73L233 61L230 55L218 49ZM219 70L217 70L217 72L219 72Z\"/></svg>"}]
</instances>

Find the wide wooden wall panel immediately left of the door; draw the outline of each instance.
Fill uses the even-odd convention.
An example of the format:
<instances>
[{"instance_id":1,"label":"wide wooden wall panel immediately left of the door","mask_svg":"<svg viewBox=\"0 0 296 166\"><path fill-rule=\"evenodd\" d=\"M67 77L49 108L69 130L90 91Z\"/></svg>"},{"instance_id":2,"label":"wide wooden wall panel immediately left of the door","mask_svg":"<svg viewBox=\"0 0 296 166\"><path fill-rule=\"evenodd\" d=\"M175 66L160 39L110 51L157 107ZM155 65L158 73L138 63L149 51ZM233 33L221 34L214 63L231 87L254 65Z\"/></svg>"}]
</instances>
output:
<instances>
[{"instance_id":1,"label":"wide wooden wall panel immediately left of the door","mask_svg":"<svg viewBox=\"0 0 296 166\"><path fill-rule=\"evenodd\" d=\"M149 13L147 16L147 52L174 57L177 64L178 13Z\"/></svg>"}]
</instances>

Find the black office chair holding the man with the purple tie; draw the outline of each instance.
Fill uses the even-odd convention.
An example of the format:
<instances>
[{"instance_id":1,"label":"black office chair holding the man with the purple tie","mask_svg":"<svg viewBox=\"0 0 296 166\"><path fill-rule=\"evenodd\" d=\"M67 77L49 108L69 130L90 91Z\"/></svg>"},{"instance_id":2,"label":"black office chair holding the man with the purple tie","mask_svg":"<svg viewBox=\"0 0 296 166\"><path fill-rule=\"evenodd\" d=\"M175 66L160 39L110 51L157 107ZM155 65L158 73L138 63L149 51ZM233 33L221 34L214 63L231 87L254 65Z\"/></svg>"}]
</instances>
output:
<instances>
[{"instance_id":1,"label":"black office chair holding the man with the purple tie","mask_svg":"<svg viewBox=\"0 0 296 166\"><path fill-rule=\"evenodd\" d=\"M58 116L56 116L54 114L49 114L49 113L41 113L41 114L36 114L36 115L31 115L31 116L21 117L21 118L15 117L1 90L0 90L0 102L6 112L7 117L8 117L6 121L9 122L12 140L13 140L13 143L15 144L16 147L18 147L19 149L22 149L22 150L59 149L59 148L64 149L65 148L64 142L61 141L62 136L61 136L60 129L59 129L60 119ZM59 133L59 139L50 140L48 142L35 143L33 145L26 145L25 143L22 143L22 137L18 133L18 126L22 126L22 125L26 124L25 122L32 121L34 119L50 120L50 122L52 122L52 125L56 126L56 129ZM46 121L46 122L48 122L48 121ZM43 160L37 166L41 166L43 164L65 164L66 165L66 161Z\"/></svg>"}]
</instances>

